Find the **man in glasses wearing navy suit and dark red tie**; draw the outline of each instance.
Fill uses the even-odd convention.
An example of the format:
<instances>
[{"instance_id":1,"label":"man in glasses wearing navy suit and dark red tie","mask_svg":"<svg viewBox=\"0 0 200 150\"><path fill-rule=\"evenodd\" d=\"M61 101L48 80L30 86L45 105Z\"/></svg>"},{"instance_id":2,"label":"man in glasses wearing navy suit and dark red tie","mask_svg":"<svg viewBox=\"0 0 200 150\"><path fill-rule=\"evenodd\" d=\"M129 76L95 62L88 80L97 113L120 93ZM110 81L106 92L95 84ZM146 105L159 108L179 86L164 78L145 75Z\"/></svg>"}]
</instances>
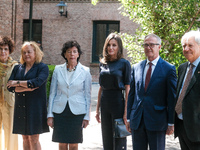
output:
<instances>
[{"instance_id":1,"label":"man in glasses wearing navy suit and dark red tie","mask_svg":"<svg viewBox=\"0 0 200 150\"><path fill-rule=\"evenodd\" d=\"M175 66L159 56L161 39L149 34L144 39L147 59L134 65L127 104L127 130L133 149L165 149L165 135L174 132L176 95Z\"/></svg>"}]
</instances>

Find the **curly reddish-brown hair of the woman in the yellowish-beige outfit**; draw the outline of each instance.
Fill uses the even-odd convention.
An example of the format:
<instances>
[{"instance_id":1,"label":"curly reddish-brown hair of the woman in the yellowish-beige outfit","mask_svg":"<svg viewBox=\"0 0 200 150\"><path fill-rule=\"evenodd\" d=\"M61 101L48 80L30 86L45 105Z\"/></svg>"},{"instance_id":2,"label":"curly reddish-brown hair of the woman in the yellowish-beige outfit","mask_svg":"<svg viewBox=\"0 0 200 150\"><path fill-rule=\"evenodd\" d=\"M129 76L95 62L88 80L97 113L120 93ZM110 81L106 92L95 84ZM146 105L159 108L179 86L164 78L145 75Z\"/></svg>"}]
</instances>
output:
<instances>
[{"instance_id":1,"label":"curly reddish-brown hair of the woman in the yellowish-beige outfit","mask_svg":"<svg viewBox=\"0 0 200 150\"><path fill-rule=\"evenodd\" d=\"M14 51L14 47L15 47L14 41L7 36L3 36L3 37L0 36L0 46L4 46L4 45L8 45L10 54Z\"/></svg>"}]
</instances>

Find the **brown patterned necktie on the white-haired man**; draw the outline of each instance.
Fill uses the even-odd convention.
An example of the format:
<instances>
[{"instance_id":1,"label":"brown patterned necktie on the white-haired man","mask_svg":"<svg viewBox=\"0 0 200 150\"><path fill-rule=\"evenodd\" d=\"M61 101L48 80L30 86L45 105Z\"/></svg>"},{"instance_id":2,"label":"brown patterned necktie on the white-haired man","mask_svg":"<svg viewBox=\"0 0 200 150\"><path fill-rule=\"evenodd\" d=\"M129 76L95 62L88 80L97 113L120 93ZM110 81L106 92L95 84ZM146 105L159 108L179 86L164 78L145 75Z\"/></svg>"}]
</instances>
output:
<instances>
[{"instance_id":1,"label":"brown patterned necktie on the white-haired man","mask_svg":"<svg viewBox=\"0 0 200 150\"><path fill-rule=\"evenodd\" d=\"M184 82L184 85L183 85L183 88L182 88L182 91L178 97L178 100L177 100L177 104L176 104L176 107L175 107L175 110L176 110L176 113L177 114L180 114L182 113L182 101L183 101L183 98L185 96L185 92L188 88L188 85L190 83L190 80L192 78L192 70L193 70L193 67L194 65L193 64L190 64L190 68L188 70L188 73L187 73L187 77L185 79L185 82Z\"/></svg>"}]
</instances>

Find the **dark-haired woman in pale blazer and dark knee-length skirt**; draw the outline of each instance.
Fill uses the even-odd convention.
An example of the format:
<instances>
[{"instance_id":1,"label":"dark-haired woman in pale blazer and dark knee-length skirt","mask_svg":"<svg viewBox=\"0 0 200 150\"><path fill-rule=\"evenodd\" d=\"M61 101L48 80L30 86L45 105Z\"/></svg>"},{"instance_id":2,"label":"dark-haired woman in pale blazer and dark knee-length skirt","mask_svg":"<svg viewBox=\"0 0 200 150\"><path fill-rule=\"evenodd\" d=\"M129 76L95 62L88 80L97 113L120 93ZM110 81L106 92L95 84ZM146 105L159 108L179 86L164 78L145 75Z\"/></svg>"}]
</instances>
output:
<instances>
[{"instance_id":1,"label":"dark-haired woman in pale blazer and dark knee-length skirt","mask_svg":"<svg viewBox=\"0 0 200 150\"><path fill-rule=\"evenodd\" d=\"M59 142L59 150L78 150L90 120L92 78L79 62L81 54L76 41L64 43L66 63L57 65L52 76L47 124L54 129L52 141Z\"/></svg>"}]
</instances>

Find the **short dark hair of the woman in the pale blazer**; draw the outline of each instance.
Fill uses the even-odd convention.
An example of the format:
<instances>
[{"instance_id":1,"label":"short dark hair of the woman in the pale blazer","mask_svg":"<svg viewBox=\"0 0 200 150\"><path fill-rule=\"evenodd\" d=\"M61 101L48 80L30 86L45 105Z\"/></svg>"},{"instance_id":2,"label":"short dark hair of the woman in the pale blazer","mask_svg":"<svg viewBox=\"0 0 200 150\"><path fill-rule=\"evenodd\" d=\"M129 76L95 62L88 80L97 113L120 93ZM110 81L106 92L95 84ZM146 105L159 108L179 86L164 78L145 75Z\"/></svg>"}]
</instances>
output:
<instances>
[{"instance_id":1,"label":"short dark hair of the woman in the pale blazer","mask_svg":"<svg viewBox=\"0 0 200 150\"><path fill-rule=\"evenodd\" d=\"M61 56L68 62L67 58L65 58L65 53L69 48L76 47L78 49L79 57L77 58L77 62L79 61L81 54L83 53L81 51L81 46L78 44L76 40L72 41L67 41L66 43L63 44L63 47L61 49Z\"/></svg>"}]
</instances>

